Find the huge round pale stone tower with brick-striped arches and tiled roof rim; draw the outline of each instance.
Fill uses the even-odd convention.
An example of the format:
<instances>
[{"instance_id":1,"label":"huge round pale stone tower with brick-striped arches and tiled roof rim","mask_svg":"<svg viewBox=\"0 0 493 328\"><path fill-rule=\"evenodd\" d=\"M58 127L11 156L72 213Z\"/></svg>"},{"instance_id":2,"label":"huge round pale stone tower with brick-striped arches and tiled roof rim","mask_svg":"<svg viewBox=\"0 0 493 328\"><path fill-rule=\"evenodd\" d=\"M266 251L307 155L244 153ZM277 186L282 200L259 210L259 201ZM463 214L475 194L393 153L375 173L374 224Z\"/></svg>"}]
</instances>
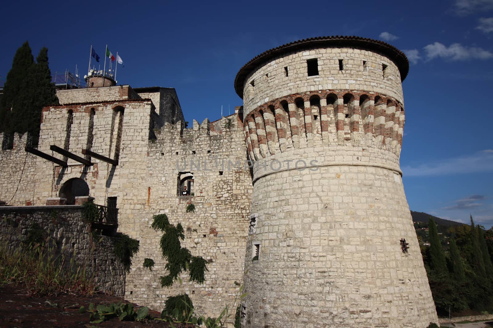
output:
<instances>
[{"instance_id":1,"label":"huge round pale stone tower with brick-striped arches and tiled roof rim","mask_svg":"<svg viewBox=\"0 0 493 328\"><path fill-rule=\"evenodd\" d=\"M406 56L354 36L238 72L253 167L243 327L438 322L402 185Z\"/></svg>"}]
</instances>

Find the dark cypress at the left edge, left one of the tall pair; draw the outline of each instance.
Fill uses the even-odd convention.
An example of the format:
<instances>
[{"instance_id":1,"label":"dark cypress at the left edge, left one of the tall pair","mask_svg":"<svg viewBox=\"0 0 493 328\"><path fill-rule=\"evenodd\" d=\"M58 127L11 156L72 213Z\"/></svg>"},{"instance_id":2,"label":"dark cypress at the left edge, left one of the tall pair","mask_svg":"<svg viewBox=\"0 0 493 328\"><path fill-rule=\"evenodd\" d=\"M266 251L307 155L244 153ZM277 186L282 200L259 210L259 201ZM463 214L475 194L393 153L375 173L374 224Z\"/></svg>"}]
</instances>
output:
<instances>
[{"instance_id":1,"label":"dark cypress at the left edge, left one of the tall pair","mask_svg":"<svg viewBox=\"0 0 493 328\"><path fill-rule=\"evenodd\" d=\"M1 130L7 133L27 131L25 99L31 91L29 87L29 71L34 65L34 58L29 42L17 49L12 68L7 74L0 102Z\"/></svg>"}]
</instances>

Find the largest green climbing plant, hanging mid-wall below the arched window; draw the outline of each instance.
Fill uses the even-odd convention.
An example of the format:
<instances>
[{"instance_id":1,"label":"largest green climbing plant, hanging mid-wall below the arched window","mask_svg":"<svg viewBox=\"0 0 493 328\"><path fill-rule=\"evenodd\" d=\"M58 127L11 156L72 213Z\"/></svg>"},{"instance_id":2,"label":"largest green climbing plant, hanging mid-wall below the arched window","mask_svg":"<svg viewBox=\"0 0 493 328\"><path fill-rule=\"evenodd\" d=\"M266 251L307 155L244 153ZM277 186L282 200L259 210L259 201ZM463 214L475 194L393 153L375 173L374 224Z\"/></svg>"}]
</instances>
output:
<instances>
[{"instance_id":1,"label":"largest green climbing plant, hanging mid-wall below the arched window","mask_svg":"<svg viewBox=\"0 0 493 328\"><path fill-rule=\"evenodd\" d=\"M173 285L183 270L189 271L190 281L203 283L207 261L200 256L192 256L188 248L181 247L180 239L185 239L181 224L175 226L170 223L166 214L159 214L153 216L151 227L155 231L163 232L159 244L163 258L167 261L165 268L168 274L160 277L161 287Z\"/></svg>"}]
</instances>

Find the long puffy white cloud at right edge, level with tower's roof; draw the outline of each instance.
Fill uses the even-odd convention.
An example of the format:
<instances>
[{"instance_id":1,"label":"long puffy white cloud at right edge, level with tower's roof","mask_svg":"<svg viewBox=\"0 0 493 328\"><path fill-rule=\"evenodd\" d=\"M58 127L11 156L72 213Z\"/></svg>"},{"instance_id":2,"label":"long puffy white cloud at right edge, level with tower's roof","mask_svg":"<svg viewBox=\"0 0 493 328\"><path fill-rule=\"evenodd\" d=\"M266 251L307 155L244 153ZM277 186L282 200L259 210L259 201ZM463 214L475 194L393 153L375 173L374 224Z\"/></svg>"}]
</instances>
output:
<instances>
[{"instance_id":1,"label":"long puffy white cloud at right edge, level with tower's roof","mask_svg":"<svg viewBox=\"0 0 493 328\"><path fill-rule=\"evenodd\" d=\"M449 60L468 60L468 59L491 59L493 53L478 47L464 47L459 43L454 43L449 47L440 42L428 44L423 47L426 59L432 60L437 57Z\"/></svg>"}]
</instances>

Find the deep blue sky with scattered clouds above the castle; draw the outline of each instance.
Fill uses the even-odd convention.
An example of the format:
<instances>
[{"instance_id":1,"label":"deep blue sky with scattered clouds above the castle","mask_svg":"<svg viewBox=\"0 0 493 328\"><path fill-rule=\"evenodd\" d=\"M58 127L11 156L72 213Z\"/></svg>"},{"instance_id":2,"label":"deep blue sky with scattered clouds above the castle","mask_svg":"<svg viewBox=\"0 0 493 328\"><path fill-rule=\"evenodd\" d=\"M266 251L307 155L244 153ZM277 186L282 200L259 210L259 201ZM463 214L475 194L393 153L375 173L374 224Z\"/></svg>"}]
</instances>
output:
<instances>
[{"instance_id":1,"label":"deep blue sky with scattered clouds above the castle","mask_svg":"<svg viewBox=\"0 0 493 328\"><path fill-rule=\"evenodd\" d=\"M410 208L493 225L493 0L42 2L2 5L0 84L25 40L35 56L48 47L52 72L77 64L82 75L91 44L101 58L108 44L125 64L119 84L176 88L190 123L242 105L235 75L265 50L321 35L387 41L411 61L401 153Z\"/></svg>"}]
</instances>

